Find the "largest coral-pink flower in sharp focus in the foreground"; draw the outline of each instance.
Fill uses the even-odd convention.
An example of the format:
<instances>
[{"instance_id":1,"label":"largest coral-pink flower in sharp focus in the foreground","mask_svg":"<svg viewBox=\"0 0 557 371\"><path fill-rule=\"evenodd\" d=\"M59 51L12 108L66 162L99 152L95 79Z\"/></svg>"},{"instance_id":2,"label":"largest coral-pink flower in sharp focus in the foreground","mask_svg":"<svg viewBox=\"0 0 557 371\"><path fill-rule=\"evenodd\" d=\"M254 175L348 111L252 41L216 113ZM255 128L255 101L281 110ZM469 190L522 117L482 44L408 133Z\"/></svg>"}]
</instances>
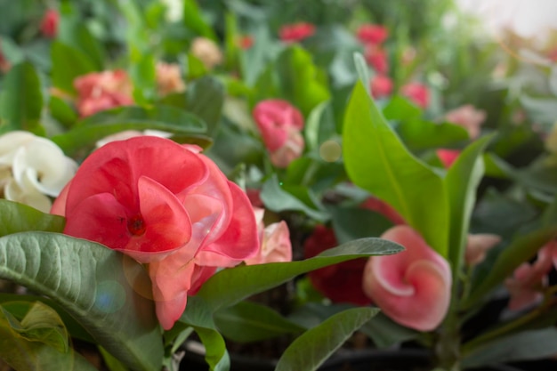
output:
<instances>
[{"instance_id":1,"label":"largest coral-pink flower in sharp focus in the foreground","mask_svg":"<svg viewBox=\"0 0 557 371\"><path fill-rule=\"evenodd\" d=\"M218 267L259 248L246 193L198 152L159 137L109 142L79 166L51 210L66 217L64 233L149 263L165 329Z\"/></svg>"}]
</instances>

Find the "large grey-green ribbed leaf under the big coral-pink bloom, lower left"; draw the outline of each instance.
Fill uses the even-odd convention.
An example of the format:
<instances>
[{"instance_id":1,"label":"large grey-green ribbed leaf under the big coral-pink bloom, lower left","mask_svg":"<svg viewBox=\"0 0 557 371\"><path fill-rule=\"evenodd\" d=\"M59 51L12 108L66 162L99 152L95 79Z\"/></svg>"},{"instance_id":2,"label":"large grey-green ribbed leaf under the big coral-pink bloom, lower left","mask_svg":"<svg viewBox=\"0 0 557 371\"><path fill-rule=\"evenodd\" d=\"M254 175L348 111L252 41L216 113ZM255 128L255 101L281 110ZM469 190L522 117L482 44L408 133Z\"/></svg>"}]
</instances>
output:
<instances>
[{"instance_id":1,"label":"large grey-green ribbed leaf under the big coral-pink bloom, lower left","mask_svg":"<svg viewBox=\"0 0 557 371\"><path fill-rule=\"evenodd\" d=\"M61 234L16 233L0 238L0 278L52 298L128 367L161 366L149 278L125 255Z\"/></svg>"}]
</instances>

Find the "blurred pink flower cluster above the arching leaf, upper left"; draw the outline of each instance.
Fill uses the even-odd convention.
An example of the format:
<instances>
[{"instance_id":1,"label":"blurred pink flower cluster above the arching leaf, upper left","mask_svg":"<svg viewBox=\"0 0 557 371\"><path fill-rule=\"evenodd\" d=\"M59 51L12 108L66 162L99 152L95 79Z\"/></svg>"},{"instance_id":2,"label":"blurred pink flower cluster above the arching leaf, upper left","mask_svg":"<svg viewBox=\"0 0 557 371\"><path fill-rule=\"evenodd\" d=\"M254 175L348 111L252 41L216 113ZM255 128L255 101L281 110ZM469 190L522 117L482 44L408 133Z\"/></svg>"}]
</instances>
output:
<instances>
[{"instance_id":1,"label":"blurred pink flower cluster above the arching leaf, upper left","mask_svg":"<svg viewBox=\"0 0 557 371\"><path fill-rule=\"evenodd\" d=\"M124 70L93 72L74 80L81 117L133 104L133 85Z\"/></svg>"}]
</instances>

